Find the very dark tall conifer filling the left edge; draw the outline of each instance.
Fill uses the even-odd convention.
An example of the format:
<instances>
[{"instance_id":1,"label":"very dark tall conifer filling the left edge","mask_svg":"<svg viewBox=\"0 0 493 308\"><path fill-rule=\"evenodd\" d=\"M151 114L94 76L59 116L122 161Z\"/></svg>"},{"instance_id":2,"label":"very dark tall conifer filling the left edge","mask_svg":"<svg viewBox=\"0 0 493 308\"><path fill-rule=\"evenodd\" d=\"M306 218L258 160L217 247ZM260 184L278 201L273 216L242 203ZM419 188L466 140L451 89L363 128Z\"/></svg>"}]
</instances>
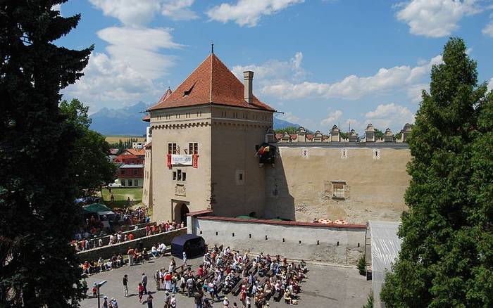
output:
<instances>
[{"instance_id":1,"label":"very dark tall conifer filling the left edge","mask_svg":"<svg viewBox=\"0 0 493 308\"><path fill-rule=\"evenodd\" d=\"M81 219L70 169L78 132L58 103L92 47L54 44L80 20L52 10L65 1L0 0L2 307L77 307L82 297L79 262L67 245Z\"/></svg>"}]
</instances>

